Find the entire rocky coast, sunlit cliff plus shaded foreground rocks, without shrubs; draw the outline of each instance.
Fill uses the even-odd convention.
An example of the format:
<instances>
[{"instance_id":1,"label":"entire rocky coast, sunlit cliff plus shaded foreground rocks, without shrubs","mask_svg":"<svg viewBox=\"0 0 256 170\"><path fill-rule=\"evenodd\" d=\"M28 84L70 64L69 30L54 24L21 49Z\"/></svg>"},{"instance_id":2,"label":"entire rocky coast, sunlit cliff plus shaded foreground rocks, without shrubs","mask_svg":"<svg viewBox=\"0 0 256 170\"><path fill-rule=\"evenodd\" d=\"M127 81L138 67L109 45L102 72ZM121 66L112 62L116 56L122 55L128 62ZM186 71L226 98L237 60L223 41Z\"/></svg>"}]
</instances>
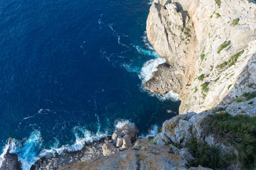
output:
<instances>
[{"instance_id":1,"label":"entire rocky coast, sunlit cliff plus shaded foreground rocks, without shrubs","mask_svg":"<svg viewBox=\"0 0 256 170\"><path fill-rule=\"evenodd\" d=\"M112 136L85 143L80 151L42 157L31 170L208 169L190 165L196 156L186 149L191 138L196 145L220 148L221 154L234 152L236 159L225 169L241 169L242 151L223 141L225 131L219 138L206 132L207 118L218 114L255 119L256 5L255 1L217 2L154 0L150 8L146 31L166 64L159 65L146 89L156 94L174 91L181 99L180 115L166 120L154 139L137 138L135 126L124 125ZM223 127L228 123L233 122L225 120ZM235 123L236 128L238 120ZM0 170L21 170L18 156L9 151Z\"/></svg>"}]
</instances>

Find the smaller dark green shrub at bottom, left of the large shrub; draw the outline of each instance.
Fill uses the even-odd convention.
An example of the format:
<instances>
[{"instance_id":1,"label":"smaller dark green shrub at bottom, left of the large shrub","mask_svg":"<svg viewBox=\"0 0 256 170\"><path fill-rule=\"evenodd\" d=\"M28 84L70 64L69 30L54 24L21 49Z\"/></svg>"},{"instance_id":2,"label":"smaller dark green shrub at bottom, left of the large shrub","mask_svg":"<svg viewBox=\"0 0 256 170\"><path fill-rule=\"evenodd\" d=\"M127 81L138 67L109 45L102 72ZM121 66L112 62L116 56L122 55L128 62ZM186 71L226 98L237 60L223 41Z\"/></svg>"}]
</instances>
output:
<instances>
[{"instance_id":1,"label":"smaller dark green shrub at bottom, left of the large shrub","mask_svg":"<svg viewBox=\"0 0 256 170\"><path fill-rule=\"evenodd\" d=\"M219 147L210 147L206 142L197 142L195 137L191 137L186 142L186 147L191 151L193 157L190 166L206 166L211 169L225 168L235 160L234 154L221 154Z\"/></svg>"}]
</instances>

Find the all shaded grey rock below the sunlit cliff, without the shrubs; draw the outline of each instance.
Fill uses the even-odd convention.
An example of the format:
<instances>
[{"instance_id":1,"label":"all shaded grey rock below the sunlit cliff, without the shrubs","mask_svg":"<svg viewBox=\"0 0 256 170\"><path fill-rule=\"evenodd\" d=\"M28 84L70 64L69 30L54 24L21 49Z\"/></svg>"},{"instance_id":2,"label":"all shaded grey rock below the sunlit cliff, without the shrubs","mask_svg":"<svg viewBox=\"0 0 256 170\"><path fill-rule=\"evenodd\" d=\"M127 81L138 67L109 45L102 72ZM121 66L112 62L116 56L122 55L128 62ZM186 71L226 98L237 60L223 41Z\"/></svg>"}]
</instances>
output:
<instances>
[{"instance_id":1,"label":"all shaded grey rock below the sunlit cliff, without the shrubs","mask_svg":"<svg viewBox=\"0 0 256 170\"><path fill-rule=\"evenodd\" d=\"M250 103L250 104L249 104ZM200 166L191 167L193 154L186 149L186 143L191 137L206 142L209 146L220 147L222 153L234 152L231 145L209 135L203 123L208 115L229 113L230 115L249 115L255 117L256 98L250 101L234 101L225 111L215 108L203 113L186 113L176 115L166 120L156 137L151 139L137 138L134 125L124 125L114 130L112 136L102 137L100 140L86 142L79 151L63 151L51 157L41 157L31 170L56 169L208 169ZM21 162L16 154L9 149L4 155L0 170L21 170ZM238 151L235 151L238 152ZM231 164L228 169L240 169L241 164ZM161 167L161 168L159 168ZM26 170L26 169L23 169Z\"/></svg>"}]
</instances>

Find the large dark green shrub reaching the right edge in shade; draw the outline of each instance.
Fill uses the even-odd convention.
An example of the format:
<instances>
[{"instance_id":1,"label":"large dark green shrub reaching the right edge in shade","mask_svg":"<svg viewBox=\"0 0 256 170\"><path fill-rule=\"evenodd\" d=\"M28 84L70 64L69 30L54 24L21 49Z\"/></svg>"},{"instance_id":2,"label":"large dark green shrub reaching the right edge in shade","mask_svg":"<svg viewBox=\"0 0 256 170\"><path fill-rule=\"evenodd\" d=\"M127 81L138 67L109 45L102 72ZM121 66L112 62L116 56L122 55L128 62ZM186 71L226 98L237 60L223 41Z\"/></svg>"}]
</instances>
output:
<instances>
[{"instance_id":1,"label":"large dark green shrub reaching the right edge in shade","mask_svg":"<svg viewBox=\"0 0 256 170\"><path fill-rule=\"evenodd\" d=\"M216 140L238 149L242 169L256 167L256 117L228 113L208 115L202 123L204 132L213 134Z\"/></svg>"}]
</instances>

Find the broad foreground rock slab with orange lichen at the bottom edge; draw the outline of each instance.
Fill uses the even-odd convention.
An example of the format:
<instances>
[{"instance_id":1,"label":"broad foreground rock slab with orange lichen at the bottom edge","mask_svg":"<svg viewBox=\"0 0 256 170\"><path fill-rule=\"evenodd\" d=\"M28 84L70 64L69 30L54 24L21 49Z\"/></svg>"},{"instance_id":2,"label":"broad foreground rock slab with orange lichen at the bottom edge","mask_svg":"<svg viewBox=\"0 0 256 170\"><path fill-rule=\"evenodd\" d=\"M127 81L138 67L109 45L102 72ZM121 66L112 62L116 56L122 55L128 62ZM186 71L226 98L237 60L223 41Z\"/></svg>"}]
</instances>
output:
<instances>
[{"instance_id":1,"label":"broad foreground rock slab with orange lichen at the bottom edge","mask_svg":"<svg viewBox=\"0 0 256 170\"><path fill-rule=\"evenodd\" d=\"M188 157L181 154L181 149L143 143L141 147L130 148L109 157L99 157L87 162L80 162L62 169L188 169ZM176 150L175 153L172 150ZM189 154L187 152L187 154ZM60 169L60 170L62 170ZM200 167L203 169L203 167Z\"/></svg>"}]
</instances>

